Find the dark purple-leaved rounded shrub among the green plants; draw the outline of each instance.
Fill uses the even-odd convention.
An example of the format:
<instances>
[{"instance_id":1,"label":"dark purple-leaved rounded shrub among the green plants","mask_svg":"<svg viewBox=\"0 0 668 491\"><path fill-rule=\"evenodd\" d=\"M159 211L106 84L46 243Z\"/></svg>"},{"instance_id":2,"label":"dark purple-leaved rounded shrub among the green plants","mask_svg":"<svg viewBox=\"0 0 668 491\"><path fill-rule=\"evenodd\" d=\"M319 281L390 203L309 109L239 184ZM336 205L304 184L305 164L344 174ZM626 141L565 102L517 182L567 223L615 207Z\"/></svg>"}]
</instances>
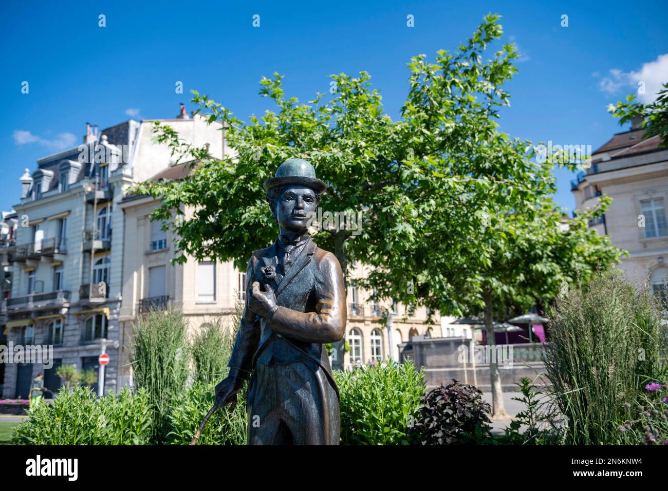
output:
<instances>
[{"instance_id":1,"label":"dark purple-leaved rounded shrub among the green plants","mask_svg":"<svg viewBox=\"0 0 668 491\"><path fill-rule=\"evenodd\" d=\"M490 405L474 385L453 380L422 399L413 433L422 445L488 444Z\"/></svg>"}]
</instances>

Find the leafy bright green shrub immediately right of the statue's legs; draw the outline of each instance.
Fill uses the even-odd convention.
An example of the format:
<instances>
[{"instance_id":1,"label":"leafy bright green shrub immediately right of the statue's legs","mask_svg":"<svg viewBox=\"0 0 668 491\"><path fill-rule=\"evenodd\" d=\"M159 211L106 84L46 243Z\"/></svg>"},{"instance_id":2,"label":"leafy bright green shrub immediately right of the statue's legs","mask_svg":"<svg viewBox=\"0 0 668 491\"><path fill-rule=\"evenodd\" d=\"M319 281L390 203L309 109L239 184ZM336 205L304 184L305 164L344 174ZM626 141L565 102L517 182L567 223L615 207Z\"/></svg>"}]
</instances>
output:
<instances>
[{"instance_id":1,"label":"leafy bright green shrub immediately right of the statue's legs","mask_svg":"<svg viewBox=\"0 0 668 491\"><path fill-rule=\"evenodd\" d=\"M424 395L423 370L411 361L334 372L341 394L341 444L405 445Z\"/></svg>"}]
</instances>

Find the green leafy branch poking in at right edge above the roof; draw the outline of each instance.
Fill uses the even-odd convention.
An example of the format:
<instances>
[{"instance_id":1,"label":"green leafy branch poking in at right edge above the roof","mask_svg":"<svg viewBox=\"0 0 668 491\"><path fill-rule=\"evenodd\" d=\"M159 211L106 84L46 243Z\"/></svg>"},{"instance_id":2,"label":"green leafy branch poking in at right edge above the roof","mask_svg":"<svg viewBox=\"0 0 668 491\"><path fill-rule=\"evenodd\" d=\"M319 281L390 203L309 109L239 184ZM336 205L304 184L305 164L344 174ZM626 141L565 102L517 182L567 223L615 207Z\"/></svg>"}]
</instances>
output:
<instances>
[{"instance_id":1,"label":"green leafy branch poking in at right edge above the roof","mask_svg":"<svg viewBox=\"0 0 668 491\"><path fill-rule=\"evenodd\" d=\"M618 101L616 105L608 106L608 111L615 118L619 118L619 124L643 118L641 124L641 128L645 129L643 140L659 135L660 146L668 146L668 82L663 84L663 89L657 94L656 100L650 104L637 102L635 94L631 94L627 96L626 101Z\"/></svg>"}]
</instances>

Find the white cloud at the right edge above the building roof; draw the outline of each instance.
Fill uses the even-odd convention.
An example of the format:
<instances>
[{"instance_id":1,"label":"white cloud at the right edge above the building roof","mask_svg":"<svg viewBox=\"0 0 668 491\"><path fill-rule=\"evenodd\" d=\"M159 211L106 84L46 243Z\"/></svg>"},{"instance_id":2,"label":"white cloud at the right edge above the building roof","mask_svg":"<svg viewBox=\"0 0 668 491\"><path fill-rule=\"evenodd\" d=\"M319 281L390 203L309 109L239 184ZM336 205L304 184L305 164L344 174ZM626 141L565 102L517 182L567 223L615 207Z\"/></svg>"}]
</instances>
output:
<instances>
[{"instance_id":1,"label":"white cloud at the right edge above the building roof","mask_svg":"<svg viewBox=\"0 0 668 491\"><path fill-rule=\"evenodd\" d=\"M643 94L637 92L640 83L643 82L645 91ZM643 63L637 71L624 72L613 68L609 75L599 82L599 87L607 94L617 94L622 89L633 87L637 92L638 100L643 104L649 104L657 98L657 92L661 90L661 84L668 82L668 53L659 55L655 61Z\"/></svg>"}]
</instances>

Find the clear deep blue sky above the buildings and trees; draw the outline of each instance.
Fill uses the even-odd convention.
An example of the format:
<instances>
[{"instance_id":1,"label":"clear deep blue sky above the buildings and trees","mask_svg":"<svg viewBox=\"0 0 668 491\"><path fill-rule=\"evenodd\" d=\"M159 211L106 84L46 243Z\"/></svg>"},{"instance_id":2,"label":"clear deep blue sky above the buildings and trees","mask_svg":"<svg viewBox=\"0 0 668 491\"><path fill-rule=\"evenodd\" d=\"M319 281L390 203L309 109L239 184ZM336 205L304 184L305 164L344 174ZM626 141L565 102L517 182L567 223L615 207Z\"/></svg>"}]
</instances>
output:
<instances>
[{"instance_id":1,"label":"clear deep blue sky above the buildings and trees","mask_svg":"<svg viewBox=\"0 0 668 491\"><path fill-rule=\"evenodd\" d=\"M331 73L372 75L393 118L407 94L406 63L454 49L487 13L500 13L504 41L517 43L519 72L506 85L502 130L553 144L591 144L615 132L611 102L646 81L668 81L664 1L480 2L61 2L0 6L3 118L0 209L19 202L19 177L37 158L81 143L86 122L106 128L172 118L190 90L238 118L273 108L258 81L285 75L287 94L310 100ZM106 27L98 16L106 16ZM253 27L253 15L260 27ZM407 15L414 27L407 27ZM568 27L561 27L562 15ZM666 55L661 57L661 55ZM21 83L29 82L29 94ZM182 81L184 94L175 94ZM646 94L645 98L650 95ZM572 208L567 170L556 199Z\"/></svg>"}]
</instances>

